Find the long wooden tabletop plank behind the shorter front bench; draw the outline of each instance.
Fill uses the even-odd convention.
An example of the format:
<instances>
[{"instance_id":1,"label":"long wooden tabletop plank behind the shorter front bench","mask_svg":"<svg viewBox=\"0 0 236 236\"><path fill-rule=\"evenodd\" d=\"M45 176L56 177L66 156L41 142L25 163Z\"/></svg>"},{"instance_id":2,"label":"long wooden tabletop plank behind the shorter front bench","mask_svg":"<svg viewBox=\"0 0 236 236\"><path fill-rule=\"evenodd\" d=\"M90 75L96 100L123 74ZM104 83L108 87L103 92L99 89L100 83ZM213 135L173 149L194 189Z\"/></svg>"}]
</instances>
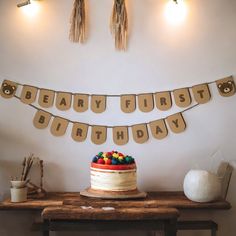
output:
<instances>
[{"instance_id":1,"label":"long wooden tabletop plank behind the shorter front bench","mask_svg":"<svg viewBox=\"0 0 236 236\"><path fill-rule=\"evenodd\" d=\"M187 199L183 192L148 192L145 199L102 200L80 196L79 193L52 192L42 199L28 199L23 203L11 203L10 199L0 202L0 210L42 210L45 207L74 205L92 207L155 208L173 207L177 209L222 209L231 208L229 202L220 199L215 202L197 203Z\"/></svg>"}]
</instances>

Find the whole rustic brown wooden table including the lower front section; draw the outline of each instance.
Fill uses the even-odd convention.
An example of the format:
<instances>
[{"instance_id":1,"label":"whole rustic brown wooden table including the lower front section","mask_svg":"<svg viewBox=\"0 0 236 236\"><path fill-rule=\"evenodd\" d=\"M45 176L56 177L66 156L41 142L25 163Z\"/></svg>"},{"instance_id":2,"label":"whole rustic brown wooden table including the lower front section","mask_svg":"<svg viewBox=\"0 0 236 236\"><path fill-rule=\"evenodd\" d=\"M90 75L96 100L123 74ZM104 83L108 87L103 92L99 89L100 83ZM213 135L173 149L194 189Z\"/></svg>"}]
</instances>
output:
<instances>
[{"instance_id":1,"label":"whole rustic brown wooden table including the lower front section","mask_svg":"<svg viewBox=\"0 0 236 236\"><path fill-rule=\"evenodd\" d=\"M104 211L104 207L114 209ZM43 235L49 235L49 230L103 231L119 228L146 231L161 229L166 235L172 236L176 235L178 228L211 229L212 227L210 221L176 224L178 210L227 210L230 208L230 203L223 199L212 203L192 202L184 196L183 192L149 192L147 198L137 200L102 200L83 197L79 193L48 193L44 199L40 200L29 199L25 203L11 203L8 199L0 203L0 210L42 211ZM114 224L114 221L117 224ZM118 227L118 223L122 224L122 227Z\"/></svg>"}]
</instances>

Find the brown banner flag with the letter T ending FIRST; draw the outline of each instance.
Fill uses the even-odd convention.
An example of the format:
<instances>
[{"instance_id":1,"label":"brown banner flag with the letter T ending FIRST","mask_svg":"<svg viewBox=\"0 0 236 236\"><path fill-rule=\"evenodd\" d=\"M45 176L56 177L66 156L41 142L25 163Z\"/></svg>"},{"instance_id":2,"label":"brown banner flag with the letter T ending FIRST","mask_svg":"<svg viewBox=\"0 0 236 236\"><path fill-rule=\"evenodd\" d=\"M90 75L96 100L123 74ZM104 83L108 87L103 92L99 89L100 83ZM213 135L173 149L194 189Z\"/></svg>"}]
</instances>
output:
<instances>
[{"instance_id":1,"label":"brown banner flag with the letter T ending FIRST","mask_svg":"<svg viewBox=\"0 0 236 236\"><path fill-rule=\"evenodd\" d=\"M194 99L197 103L204 104L210 101L211 93L208 84L195 85L192 90Z\"/></svg>"}]
</instances>

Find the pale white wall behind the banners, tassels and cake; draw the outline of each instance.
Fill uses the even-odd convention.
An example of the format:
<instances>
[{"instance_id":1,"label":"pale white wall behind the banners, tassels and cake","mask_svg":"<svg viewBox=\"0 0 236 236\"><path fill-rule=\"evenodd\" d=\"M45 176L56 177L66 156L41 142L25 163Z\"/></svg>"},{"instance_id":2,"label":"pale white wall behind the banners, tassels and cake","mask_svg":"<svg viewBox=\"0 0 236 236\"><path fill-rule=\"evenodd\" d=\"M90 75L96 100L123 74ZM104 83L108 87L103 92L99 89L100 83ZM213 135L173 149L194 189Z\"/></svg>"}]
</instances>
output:
<instances>
[{"instance_id":1,"label":"pale white wall behind the banners, tassels and cake","mask_svg":"<svg viewBox=\"0 0 236 236\"><path fill-rule=\"evenodd\" d=\"M0 78L84 93L155 92L236 76L236 1L188 1L184 24L172 27L163 18L165 1L129 0L130 40L126 53L116 52L109 32L111 0L89 0L89 39L85 45L68 40L72 1L41 1L40 12L28 18L14 0L0 1ZM212 100L185 113L187 130L170 133L158 141L150 137L143 145L133 142L118 147L111 131L104 145L90 138L76 143L70 129L55 138L49 129L32 125L35 110L18 100L0 98L0 194L9 195L9 176L16 175L29 152L45 161L48 191L80 191L89 185L89 163L94 154L118 149L133 155L138 163L138 184L143 190L181 190L191 168L215 170L222 160L236 165L236 97L219 96L211 86ZM109 99L103 114L72 109L55 114L87 123L117 125L156 120L179 109L124 114L118 99ZM90 135L90 134L89 134ZM214 154L215 153L215 154ZM209 212L220 223L219 235L233 236L236 230L235 174L228 199L233 208ZM191 212L186 216L195 217ZM14 218L12 218L14 216ZM198 214L196 217L200 217ZM0 235L37 235L28 232L32 215L0 214ZM7 223L11 220L11 224ZM13 227L14 226L14 227ZM184 235L180 233L179 235ZM204 235L199 232L187 235ZM209 234L208 234L209 235Z\"/></svg>"}]
</instances>

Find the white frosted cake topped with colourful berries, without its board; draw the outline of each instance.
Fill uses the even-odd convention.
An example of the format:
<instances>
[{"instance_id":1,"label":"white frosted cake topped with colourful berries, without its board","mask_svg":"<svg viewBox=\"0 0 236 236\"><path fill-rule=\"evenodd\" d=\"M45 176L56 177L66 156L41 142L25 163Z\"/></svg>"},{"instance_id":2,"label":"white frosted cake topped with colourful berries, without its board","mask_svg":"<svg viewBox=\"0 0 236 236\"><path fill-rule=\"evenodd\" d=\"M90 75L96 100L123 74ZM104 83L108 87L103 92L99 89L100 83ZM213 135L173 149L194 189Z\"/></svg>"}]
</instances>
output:
<instances>
[{"instance_id":1,"label":"white frosted cake topped with colourful berries, without its board","mask_svg":"<svg viewBox=\"0 0 236 236\"><path fill-rule=\"evenodd\" d=\"M91 190L137 191L136 164L133 157L117 151L100 152L90 167Z\"/></svg>"}]
</instances>

